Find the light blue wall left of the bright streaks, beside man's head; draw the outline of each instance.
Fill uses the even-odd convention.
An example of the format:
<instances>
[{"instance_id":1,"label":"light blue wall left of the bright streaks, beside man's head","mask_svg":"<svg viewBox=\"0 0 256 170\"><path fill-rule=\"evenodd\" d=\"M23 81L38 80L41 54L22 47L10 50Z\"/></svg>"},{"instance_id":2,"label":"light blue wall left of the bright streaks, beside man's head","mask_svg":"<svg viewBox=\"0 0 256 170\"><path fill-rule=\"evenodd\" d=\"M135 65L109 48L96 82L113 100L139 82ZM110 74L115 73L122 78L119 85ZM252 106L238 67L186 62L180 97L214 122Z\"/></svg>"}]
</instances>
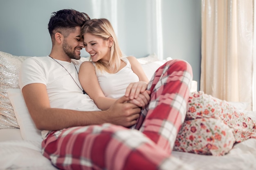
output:
<instances>
[{"instance_id":1,"label":"light blue wall left of the bright streaks, beside man's head","mask_svg":"<svg viewBox=\"0 0 256 170\"><path fill-rule=\"evenodd\" d=\"M13 55L48 55L52 12L72 8L91 13L85 0L0 0L0 50Z\"/></svg>"}]
</instances>

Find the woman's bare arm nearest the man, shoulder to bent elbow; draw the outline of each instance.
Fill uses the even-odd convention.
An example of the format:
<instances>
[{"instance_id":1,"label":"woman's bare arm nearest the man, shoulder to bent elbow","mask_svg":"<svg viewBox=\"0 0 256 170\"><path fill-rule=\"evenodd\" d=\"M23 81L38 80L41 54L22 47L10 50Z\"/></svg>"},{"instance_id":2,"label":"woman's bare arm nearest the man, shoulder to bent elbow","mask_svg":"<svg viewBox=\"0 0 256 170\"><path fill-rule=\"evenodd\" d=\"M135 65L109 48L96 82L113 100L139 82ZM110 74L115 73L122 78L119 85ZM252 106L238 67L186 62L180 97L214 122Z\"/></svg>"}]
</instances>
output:
<instances>
[{"instance_id":1,"label":"woman's bare arm nearest the man, shoulder to bent elbow","mask_svg":"<svg viewBox=\"0 0 256 170\"><path fill-rule=\"evenodd\" d=\"M90 61L85 61L79 69L79 81L85 92L101 110L106 110L114 104L116 99L107 98L99 85L95 67Z\"/></svg>"}]
</instances>

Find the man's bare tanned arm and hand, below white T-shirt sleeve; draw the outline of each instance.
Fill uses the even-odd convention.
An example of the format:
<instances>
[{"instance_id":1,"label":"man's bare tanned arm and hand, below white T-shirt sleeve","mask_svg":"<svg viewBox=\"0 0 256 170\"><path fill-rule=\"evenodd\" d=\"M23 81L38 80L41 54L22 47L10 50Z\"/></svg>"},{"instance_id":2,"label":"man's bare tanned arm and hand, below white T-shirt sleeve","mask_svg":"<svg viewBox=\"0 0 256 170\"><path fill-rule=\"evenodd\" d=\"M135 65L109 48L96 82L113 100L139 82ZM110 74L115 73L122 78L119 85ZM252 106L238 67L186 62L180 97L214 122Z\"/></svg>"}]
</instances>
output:
<instances>
[{"instance_id":1,"label":"man's bare tanned arm and hand, below white T-shirt sleeve","mask_svg":"<svg viewBox=\"0 0 256 170\"><path fill-rule=\"evenodd\" d=\"M128 97L118 99L106 111L75 111L51 108L44 84L32 83L22 88L28 111L40 130L60 130L71 126L112 123L132 126L139 117L140 109L127 103Z\"/></svg>"}]
</instances>

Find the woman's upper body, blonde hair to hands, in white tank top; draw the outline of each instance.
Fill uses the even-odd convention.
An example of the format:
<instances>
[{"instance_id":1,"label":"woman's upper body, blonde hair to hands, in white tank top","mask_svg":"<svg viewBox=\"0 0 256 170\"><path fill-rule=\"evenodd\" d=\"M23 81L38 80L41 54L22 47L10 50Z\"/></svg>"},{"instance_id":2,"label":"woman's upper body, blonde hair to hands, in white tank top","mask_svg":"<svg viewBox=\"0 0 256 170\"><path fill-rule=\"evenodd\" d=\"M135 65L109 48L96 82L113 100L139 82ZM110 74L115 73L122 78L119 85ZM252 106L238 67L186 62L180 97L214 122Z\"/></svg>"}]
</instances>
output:
<instances>
[{"instance_id":1,"label":"woman's upper body, blonde hair to hands, in white tank top","mask_svg":"<svg viewBox=\"0 0 256 170\"><path fill-rule=\"evenodd\" d=\"M123 57L115 32L107 19L86 22L81 29L81 37L92 62L81 64L79 80L99 109L108 109L115 99L124 94L132 100L146 91L146 74L135 57ZM147 103L142 100L134 102L139 107Z\"/></svg>"}]
</instances>

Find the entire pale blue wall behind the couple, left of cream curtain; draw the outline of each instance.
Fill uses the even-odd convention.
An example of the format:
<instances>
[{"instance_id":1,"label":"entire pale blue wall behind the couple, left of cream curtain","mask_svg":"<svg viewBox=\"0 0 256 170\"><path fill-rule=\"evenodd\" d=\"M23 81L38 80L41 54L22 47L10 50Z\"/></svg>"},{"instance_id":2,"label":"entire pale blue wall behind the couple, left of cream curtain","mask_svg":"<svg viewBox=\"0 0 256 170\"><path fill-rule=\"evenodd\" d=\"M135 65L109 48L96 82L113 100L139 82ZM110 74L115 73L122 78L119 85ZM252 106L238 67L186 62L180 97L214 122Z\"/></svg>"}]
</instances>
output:
<instances>
[{"instance_id":1,"label":"entire pale blue wall behind the couple, left of cream curtain","mask_svg":"<svg viewBox=\"0 0 256 170\"><path fill-rule=\"evenodd\" d=\"M159 3L160 52L159 25L152 14ZM188 61L193 79L200 83L201 0L1 0L0 51L24 56L49 54L49 17L66 8L88 13L91 18L108 18L126 55L140 58L156 52L163 59ZM85 50L82 56L88 56Z\"/></svg>"}]
</instances>

